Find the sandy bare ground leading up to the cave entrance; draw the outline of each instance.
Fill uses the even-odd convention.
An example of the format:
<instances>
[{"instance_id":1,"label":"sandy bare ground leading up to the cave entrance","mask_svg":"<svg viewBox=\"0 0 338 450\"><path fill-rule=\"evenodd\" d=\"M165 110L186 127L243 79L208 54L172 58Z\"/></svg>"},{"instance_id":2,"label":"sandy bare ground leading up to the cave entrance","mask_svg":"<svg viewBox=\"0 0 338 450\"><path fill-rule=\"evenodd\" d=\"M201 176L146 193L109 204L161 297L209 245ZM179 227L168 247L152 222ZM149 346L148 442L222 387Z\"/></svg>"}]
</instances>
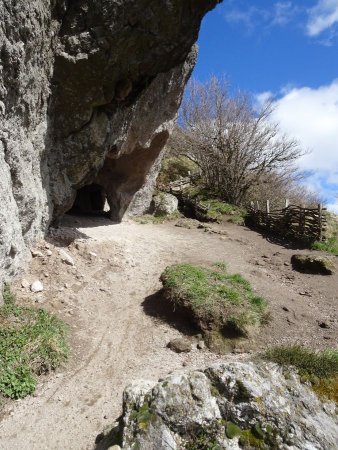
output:
<instances>
[{"instance_id":1,"label":"sandy bare ground leading up to the cave entrance","mask_svg":"<svg viewBox=\"0 0 338 450\"><path fill-rule=\"evenodd\" d=\"M225 230L220 236L173 224L114 225L100 217L68 216L57 232L64 239L38 246L43 256L32 259L15 290L20 302L44 306L70 325L72 357L41 379L35 396L4 406L0 449L102 449L95 440L121 414L123 388L132 380L245 357L219 357L196 347L176 354L166 347L182 335L182 324L156 317L159 275L168 264L226 261L230 272L244 275L271 310L255 351L285 342L337 347L338 275L299 274L290 266L295 250L244 227L228 224ZM61 262L58 247L74 266ZM36 279L44 284L42 293L22 287Z\"/></svg>"}]
</instances>

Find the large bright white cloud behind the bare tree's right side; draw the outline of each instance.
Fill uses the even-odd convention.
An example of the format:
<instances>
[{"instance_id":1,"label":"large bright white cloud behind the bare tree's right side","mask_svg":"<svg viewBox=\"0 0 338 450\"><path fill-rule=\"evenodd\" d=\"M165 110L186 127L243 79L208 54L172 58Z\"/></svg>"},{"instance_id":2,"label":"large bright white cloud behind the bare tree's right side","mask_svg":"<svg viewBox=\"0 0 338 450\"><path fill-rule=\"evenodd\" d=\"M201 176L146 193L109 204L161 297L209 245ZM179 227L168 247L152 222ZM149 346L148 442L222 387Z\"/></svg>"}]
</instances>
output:
<instances>
[{"instance_id":1,"label":"large bright white cloud behind the bare tree's right side","mask_svg":"<svg viewBox=\"0 0 338 450\"><path fill-rule=\"evenodd\" d=\"M283 89L274 102L273 120L281 130L296 138L304 149L299 168L310 174L307 185L327 199L336 209L338 193L338 79L317 89L309 87ZM256 97L261 103L270 92Z\"/></svg>"}]
</instances>

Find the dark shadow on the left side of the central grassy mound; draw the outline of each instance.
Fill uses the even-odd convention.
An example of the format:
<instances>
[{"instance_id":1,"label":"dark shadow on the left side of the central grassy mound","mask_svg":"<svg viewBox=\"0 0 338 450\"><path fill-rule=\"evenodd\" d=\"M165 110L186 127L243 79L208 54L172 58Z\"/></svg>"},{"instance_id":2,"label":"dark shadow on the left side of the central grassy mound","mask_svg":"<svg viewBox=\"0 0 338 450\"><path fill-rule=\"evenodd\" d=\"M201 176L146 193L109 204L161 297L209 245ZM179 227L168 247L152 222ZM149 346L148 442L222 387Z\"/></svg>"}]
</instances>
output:
<instances>
[{"instance_id":1,"label":"dark shadow on the left side of the central grassy mound","mask_svg":"<svg viewBox=\"0 0 338 450\"><path fill-rule=\"evenodd\" d=\"M148 316L167 323L185 335L195 336L200 333L191 317L185 311L175 309L173 303L166 299L163 289L146 297L142 307Z\"/></svg>"}]
</instances>

